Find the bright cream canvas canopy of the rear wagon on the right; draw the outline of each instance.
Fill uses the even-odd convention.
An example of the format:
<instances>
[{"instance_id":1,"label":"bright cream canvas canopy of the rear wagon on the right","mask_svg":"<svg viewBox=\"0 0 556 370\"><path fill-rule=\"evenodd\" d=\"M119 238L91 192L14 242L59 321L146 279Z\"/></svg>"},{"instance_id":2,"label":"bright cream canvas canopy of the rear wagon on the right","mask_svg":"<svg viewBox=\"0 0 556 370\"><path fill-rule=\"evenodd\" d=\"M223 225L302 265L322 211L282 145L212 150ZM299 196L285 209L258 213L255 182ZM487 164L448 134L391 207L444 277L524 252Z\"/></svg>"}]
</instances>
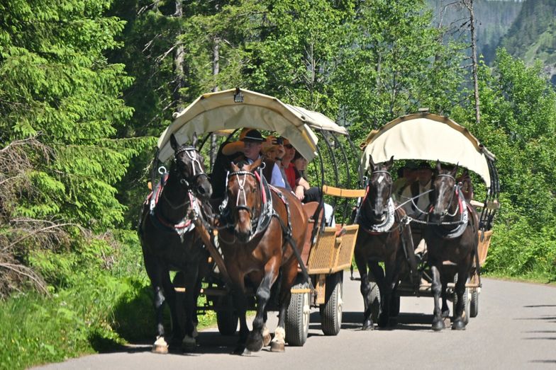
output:
<instances>
[{"instance_id":1,"label":"bright cream canvas canopy of the rear wagon on the right","mask_svg":"<svg viewBox=\"0 0 556 370\"><path fill-rule=\"evenodd\" d=\"M362 149L362 171L369 168L369 156L374 163L388 161L391 156L394 160L440 160L472 170L483 178L487 187L491 184L487 157L494 160L494 155L465 127L448 117L432 113L398 117L373 130Z\"/></svg>"}]
</instances>

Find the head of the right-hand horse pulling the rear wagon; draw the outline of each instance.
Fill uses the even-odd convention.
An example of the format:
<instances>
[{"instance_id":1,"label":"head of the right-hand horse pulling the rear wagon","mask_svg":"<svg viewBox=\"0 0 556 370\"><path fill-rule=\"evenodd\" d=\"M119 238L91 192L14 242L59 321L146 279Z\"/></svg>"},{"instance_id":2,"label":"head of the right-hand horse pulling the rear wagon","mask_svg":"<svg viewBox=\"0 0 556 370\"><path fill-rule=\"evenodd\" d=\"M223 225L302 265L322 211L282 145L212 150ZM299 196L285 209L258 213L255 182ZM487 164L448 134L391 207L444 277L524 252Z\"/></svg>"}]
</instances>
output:
<instances>
[{"instance_id":1,"label":"head of the right-hand horse pulling the rear wagon","mask_svg":"<svg viewBox=\"0 0 556 370\"><path fill-rule=\"evenodd\" d=\"M436 176L433 183L434 188L434 202L432 212L429 214L429 220L433 223L443 221L445 216L449 214L450 209L453 207L453 200L457 202L455 197L455 190L457 182L455 175L457 173L457 166L452 170L443 169L440 166L440 161L436 162Z\"/></svg>"}]
</instances>

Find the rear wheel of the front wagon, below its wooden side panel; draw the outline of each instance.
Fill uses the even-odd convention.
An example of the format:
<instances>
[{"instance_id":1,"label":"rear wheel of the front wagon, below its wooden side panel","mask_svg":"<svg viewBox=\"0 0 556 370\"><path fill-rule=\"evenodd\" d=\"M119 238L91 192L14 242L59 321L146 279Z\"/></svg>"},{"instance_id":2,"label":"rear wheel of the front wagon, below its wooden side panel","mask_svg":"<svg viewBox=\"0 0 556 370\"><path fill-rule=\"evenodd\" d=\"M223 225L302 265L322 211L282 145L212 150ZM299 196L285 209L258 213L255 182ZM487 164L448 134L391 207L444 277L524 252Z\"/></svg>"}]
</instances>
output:
<instances>
[{"instance_id":1,"label":"rear wheel of the front wagon, below its wooden side panel","mask_svg":"<svg viewBox=\"0 0 556 370\"><path fill-rule=\"evenodd\" d=\"M337 335L342 326L343 271L326 277L326 301L321 305L321 327L325 335Z\"/></svg>"}]
</instances>

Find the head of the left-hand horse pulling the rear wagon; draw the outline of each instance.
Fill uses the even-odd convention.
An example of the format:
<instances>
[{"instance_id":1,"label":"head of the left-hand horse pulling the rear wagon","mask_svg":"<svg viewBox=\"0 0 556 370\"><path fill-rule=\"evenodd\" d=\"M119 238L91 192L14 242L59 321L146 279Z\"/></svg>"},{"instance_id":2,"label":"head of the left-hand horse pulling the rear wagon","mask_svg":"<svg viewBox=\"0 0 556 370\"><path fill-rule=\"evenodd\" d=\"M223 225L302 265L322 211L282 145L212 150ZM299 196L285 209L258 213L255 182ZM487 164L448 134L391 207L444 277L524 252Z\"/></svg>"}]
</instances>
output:
<instances>
[{"instance_id":1,"label":"head of the left-hand horse pulling the rear wagon","mask_svg":"<svg viewBox=\"0 0 556 370\"><path fill-rule=\"evenodd\" d=\"M388 202L392 192L392 177L389 170L394 163L394 156L383 163L374 164L369 156L370 177L367 202L372 209L372 216L377 220L384 220L388 212Z\"/></svg>"}]
</instances>

